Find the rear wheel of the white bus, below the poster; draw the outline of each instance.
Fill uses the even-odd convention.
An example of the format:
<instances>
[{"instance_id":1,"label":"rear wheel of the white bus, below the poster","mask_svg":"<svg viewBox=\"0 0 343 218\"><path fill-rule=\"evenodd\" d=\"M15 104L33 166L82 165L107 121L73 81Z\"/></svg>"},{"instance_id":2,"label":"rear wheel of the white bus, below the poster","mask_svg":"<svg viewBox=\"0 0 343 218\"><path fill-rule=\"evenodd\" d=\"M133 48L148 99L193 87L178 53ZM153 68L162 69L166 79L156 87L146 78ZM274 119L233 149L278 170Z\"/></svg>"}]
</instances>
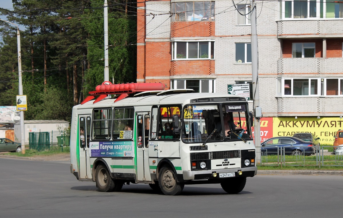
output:
<instances>
[{"instance_id":1,"label":"rear wheel of the white bus, below the poster","mask_svg":"<svg viewBox=\"0 0 343 218\"><path fill-rule=\"evenodd\" d=\"M115 188L115 182L111 178L107 168L103 165L99 165L96 168L95 182L101 192L111 192Z\"/></svg>"}]
</instances>

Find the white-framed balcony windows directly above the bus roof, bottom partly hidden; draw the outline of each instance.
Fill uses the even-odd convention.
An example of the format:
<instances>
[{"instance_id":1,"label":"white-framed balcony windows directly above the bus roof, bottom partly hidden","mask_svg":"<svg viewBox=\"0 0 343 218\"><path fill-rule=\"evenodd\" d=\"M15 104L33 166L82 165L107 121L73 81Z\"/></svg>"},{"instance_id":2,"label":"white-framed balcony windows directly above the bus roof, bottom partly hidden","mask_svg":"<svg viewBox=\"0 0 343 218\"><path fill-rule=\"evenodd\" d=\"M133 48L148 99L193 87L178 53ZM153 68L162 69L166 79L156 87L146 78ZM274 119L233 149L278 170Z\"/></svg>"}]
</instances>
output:
<instances>
[{"instance_id":1,"label":"white-framed balcony windows directly above the bus roof, bottom partly hidden","mask_svg":"<svg viewBox=\"0 0 343 218\"><path fill-rule=\"evenodd\" d=\"M171 89L190 88L195 92L213 93L214 80L200 79L200 80L172 80L170 81Z\"/></svg>"}]
</instances>

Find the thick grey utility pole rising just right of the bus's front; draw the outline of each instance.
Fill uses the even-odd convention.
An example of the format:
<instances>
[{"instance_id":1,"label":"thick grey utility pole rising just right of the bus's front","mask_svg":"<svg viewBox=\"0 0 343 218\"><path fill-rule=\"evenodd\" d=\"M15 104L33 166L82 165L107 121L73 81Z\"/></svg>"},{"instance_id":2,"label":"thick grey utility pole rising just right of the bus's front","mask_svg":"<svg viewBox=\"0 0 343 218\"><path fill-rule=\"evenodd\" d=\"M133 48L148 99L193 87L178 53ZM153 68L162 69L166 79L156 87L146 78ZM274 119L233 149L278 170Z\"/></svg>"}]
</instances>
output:
<instances>
[{"instance_id":1,"label":"thick grey utility pole rising just right of the bus's front","mask_svg":"<svg viewBox=\"0 0 343 218\"><path fill-rule=\"evenodd\" d=\"M257 29L256 29L256 3L250 0L251 6L251 68L252 68L252 99L254 111L254 140L256 148L256 160L261 160L261 135L260 135L260 118L262 112L260 108L260 95L258 85L258 46L257 46Z\"/></svg>"}]
</instances>

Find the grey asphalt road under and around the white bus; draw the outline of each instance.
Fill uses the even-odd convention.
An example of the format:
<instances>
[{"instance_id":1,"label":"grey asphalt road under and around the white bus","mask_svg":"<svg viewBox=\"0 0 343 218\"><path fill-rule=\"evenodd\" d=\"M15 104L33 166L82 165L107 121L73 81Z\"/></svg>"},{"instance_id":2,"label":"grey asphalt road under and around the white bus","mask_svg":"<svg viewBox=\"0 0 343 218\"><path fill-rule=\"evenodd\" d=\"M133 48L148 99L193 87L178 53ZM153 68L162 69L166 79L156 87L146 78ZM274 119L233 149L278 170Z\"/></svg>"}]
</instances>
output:
<instances>
[{"instance_id":1,"label":"grey asphalt road under and around the white bus","mask_svg":"<svg viewBox=\"0 0 343 218\"><path fill-rule=\"evenodd\" d=\"M245 189L226 194L218 184L185 186L179 196L148 185L99 192L79 182L68 161L0 158L3 217L342 217L343 176L257 175Z\"/></svg>"}]
</instances>

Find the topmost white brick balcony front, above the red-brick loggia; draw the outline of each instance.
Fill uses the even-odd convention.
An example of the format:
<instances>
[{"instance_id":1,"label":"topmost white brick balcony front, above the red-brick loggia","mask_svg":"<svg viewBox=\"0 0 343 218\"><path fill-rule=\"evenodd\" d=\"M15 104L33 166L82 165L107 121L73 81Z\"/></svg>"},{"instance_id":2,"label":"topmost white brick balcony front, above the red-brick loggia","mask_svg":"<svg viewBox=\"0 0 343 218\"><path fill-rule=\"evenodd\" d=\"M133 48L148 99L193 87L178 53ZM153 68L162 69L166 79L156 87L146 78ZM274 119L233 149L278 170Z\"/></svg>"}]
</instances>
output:
<instances>
[{"instance_id":1,"label":"topmost white brick balcony front, above the red-brick loggia","mask_svg":"<svg viewBox=\"0 0 343 218\"><path fill-rule=\"evenodd\" d=\"M342 19L297 19L276 21L277 38L342 38Z\"/></svg>"}]
</instances>

